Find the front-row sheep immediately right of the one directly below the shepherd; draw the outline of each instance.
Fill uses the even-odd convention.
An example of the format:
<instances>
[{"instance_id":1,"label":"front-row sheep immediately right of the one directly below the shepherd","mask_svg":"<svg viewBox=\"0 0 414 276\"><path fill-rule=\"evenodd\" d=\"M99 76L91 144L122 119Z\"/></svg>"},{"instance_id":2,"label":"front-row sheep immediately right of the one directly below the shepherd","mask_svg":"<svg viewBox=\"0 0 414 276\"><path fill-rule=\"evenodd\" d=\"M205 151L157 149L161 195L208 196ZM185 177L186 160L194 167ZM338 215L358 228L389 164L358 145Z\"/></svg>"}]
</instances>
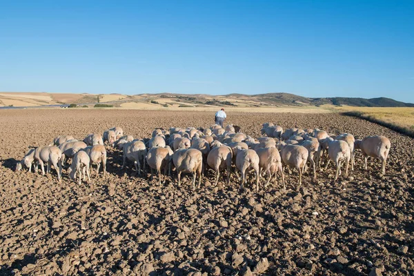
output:
<instances>
[{"instance_id":1,"label":"front-row sheep immediately right of the one directly below the shepherd","mask_svg":"<svg viewBox=\"0 0 414 276\"><path fill-rule=\"evenodd\" d=\"M244 182L246 181L246 170L253 168L256 174L256 190L259 191L259 155L255 150L245 150L239 146L237 149L236 156L236 168L242 174L242 181L240 181L240 190L244 188Z\"/></svg>"}]
</instances>

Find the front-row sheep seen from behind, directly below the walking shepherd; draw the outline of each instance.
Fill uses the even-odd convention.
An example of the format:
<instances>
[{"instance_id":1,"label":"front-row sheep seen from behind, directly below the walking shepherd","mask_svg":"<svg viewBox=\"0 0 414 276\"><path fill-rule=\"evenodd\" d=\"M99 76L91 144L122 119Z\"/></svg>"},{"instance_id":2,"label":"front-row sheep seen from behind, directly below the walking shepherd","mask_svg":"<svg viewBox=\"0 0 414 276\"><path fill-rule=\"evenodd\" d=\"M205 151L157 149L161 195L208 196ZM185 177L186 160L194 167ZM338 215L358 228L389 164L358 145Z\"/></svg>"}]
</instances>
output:
<instances>
[{"instance_id":1,"label":"front-row sheep seen from behind, directly below the walking shepherd","mask_svg":"<svg viewBox=\"0 0 414 276\"><path fill-rule=\"evenodd\" d=\"M233 152L228 146L218 146L210 150L207 156L207 164L215 171L215 185L219 181L220 170L227 169L227 185L230 184L231 162Z\"/></svg>"}]
</instances>

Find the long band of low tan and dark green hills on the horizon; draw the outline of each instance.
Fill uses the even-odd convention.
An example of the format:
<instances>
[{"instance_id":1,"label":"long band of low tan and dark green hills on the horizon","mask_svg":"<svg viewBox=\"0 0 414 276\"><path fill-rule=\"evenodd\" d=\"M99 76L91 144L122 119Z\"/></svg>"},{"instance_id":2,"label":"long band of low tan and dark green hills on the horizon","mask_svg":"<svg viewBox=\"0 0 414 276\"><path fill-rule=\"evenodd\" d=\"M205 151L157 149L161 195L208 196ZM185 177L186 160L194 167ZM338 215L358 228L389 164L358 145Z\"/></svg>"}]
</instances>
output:
<instances>
[{"instance_id":1,"label":"long band of low tan and dark green hills on the horizon","mask_svg":"<svg viewBox=\"0 0 414 276\"><path fill-rule=\"evenodd\" d=\"M0 107L37 107L59 106L62 104L77 103L93 105L98 102L111 103L114 106L128 108L159 107L214 107L229 106L239 108L249 107L282 107L282 106L359 106L359 107L414 107L413 103L404 103L389 98L308 98L290 93L266 93L258 95L228 94L228 95L204 95L204 94L70 94L48 92L0 92Z\"/></svg>"}]
</instances>

